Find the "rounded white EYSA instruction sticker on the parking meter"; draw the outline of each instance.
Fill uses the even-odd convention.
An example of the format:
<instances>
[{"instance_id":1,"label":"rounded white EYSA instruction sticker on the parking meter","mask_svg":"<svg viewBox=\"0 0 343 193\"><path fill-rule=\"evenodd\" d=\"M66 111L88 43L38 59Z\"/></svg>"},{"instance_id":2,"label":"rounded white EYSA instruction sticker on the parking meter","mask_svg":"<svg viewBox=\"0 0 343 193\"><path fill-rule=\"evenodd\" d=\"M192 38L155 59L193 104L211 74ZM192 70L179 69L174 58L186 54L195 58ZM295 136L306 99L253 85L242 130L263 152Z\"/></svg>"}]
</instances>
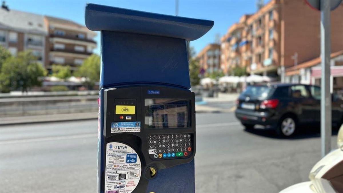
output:
<instances>
[{"instance_id":1,"label":"rounded white EYSA instruction sticker on the parking meter","mask_svg":"<svg viewBox=\"0 0 343 193\"><path fill-rule=\"evenodd\" d=\"M118 142L106 145L105 193L132 192L141 171L141 160L130 146Z\"/></svg>"}]
</instances>

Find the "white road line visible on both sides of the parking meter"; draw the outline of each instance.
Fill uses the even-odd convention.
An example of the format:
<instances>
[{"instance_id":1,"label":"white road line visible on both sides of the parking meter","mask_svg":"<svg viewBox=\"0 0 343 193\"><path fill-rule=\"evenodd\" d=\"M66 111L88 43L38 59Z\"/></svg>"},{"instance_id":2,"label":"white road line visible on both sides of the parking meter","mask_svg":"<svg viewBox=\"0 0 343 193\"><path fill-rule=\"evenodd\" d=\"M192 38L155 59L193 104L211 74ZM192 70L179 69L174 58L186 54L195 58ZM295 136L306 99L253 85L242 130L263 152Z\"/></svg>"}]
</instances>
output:
<instances>
[{"instance_id":1,"label":"white road line visible on both sides of the parking meter","mask_svg":"<svg viewBox=\"0 0 343 193\"><path fill-rule=\"evenodd\" d=\"M213 123L213 124L198 124L196 127L220 127L220 126L232 126L232 125L240 125L239 122L231 122L231 123ZM39 142L39 141L51 141L51 140L65 140L65 139L78 139L78 138L87 138L87 137L96 137L96 133L92 134L77 134L77 135L69 135L69 136L53 136L53 137L38 137L38 138L31 138L31 139L14 139L14 140L7 140L7 141L0 141L0 145L6 144L19 144L19 143L32 143L32 142Z\"/></svg>"}]
</instances>

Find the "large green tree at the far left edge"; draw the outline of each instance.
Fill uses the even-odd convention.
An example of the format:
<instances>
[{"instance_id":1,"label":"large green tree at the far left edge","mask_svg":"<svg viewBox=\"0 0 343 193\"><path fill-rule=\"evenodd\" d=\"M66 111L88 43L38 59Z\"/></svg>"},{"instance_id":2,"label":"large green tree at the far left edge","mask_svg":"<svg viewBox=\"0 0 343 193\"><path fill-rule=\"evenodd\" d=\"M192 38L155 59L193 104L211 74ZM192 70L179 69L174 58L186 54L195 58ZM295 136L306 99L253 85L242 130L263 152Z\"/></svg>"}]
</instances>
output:
<instances>
[{"instance_id":1,"label":"large green tree at the far left edge","mask_svg":"<svg viewBox=\"0 0 343 193\"><path fill-rule=\"evenodd\" d=\"M41 86L39 77L46 75L45 69L37 63L37 58L30 50L18 53L17 57L9 57L1 67L0 90L9 92L21 89L27 92L34 86Z\"/></svg>"}]
</instances>

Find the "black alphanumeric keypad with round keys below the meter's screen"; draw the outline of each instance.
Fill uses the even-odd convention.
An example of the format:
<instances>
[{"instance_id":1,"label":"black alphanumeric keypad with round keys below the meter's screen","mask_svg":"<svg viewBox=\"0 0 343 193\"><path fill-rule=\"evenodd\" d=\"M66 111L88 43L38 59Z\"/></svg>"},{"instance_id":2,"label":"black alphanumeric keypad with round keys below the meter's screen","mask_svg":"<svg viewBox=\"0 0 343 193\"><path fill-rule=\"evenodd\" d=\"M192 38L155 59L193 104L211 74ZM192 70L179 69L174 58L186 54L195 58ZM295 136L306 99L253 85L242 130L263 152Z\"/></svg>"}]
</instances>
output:
<instances>
[{"instance_id":1,"label":"black alphanumeric keypad with round keys below the meter's screen","mask_svg":"<svg viewBox=\"0 0 343 193\"><path fill-rule=\"evenodd\" d=\"M189 157L193 150L192 134L154 134L148 136L151 159L175 159Z\"/></svg>"}]
</instances>

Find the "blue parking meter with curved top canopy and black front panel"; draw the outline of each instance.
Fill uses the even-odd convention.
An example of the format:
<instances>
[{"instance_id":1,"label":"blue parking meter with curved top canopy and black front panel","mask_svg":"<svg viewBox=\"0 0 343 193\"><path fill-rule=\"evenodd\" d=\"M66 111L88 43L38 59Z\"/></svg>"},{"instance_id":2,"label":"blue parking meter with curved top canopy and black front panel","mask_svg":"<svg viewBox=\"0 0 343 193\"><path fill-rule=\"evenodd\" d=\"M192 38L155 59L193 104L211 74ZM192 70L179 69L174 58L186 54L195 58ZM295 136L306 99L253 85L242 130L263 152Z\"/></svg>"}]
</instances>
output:
<instances>
[{"instance_id":1,"label":"blue parking meter with curved top canopy and black front panel","mask_svg":"<svg viewBox=\"0 0 343 193\"><path fill-rule=\"evenodd\" d=\"M194 192L186 41L214 22L97 4L85 21L101 31L97 192Z\"/></svg>"}]
</instances>

